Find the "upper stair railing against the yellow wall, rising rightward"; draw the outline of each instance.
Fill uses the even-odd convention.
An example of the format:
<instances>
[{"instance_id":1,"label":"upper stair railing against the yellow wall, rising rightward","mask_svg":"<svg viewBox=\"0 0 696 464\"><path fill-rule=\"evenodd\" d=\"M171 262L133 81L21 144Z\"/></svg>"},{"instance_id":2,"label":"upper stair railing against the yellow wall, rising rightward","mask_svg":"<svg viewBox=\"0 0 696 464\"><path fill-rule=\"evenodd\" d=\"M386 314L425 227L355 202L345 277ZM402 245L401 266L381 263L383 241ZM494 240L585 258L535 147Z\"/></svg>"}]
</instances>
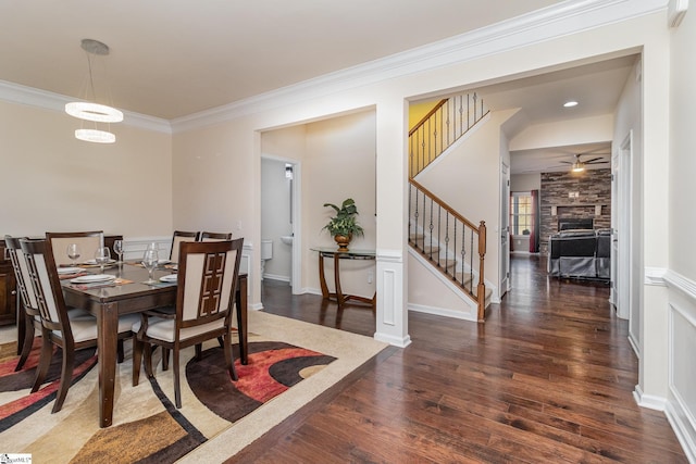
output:
<instances>
[{"instance_id":1,"label":"upper stair railing against the yellow wall, rising rightward","mask_svg":"<svg viewBox=\"0 0 696 464\"><path fill-rule=\"evenodd\" d=\"M409 131L409 177L415 177L486 114L488 109L475 92L440 100Z\"/></svg>"}]
</instances>

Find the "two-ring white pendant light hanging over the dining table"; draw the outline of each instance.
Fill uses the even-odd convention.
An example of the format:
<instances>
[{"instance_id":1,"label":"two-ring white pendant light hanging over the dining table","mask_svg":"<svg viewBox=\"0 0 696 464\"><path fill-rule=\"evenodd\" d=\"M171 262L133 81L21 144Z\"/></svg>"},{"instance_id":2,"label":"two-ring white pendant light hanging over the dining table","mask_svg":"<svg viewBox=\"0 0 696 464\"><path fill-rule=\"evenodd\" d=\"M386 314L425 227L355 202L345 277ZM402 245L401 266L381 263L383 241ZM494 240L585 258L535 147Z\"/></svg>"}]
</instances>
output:
<instances>
[{"instance_id":1,"label":"two-ring white pendant light hanging over the dining table","mask_svg":"<svg viewBox=\"0 0 696 464\"><path fill-rule=\"evenodd\" d=\"M92 76L92 58L97 55L108 55L109 46L99 40L83 39L82 48L87 52L87 64L89 66L88 91L90 95L88 95L88 97L96 100L97 93L95 91L95 79ZM115 135L97 127L97 123L110 124L123 121L123 113L115 108L99 104L94 101L75 101L65 104L65 112L71 116L94 123L94 128L85 128L83 123L83 127L75 130L75 138L96 143L113 143L116 141Z\"/></svg>"}]
</instances>

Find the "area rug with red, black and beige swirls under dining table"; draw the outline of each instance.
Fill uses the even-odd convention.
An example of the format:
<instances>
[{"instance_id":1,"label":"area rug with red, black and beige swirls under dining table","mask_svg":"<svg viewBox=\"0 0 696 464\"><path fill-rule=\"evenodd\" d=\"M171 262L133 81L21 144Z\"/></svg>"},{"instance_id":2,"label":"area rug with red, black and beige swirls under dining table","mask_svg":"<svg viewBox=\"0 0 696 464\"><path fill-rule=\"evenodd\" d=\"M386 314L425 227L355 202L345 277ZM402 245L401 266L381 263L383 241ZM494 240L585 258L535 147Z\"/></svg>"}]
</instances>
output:
<instances>
[{"instance_id":1,"label":"area rug with red, black and beige swirls under dining table","mask_svg":"<svg viewBox=\"0 0 696 464\"><path fill-rule=\"evenodd\" d=\"M228 379L213 340L200 361L182 358L183 407L173 405L171 369L130 385L129 342L117 366L114 423L98 427L98 373L94 350L76 361L63 410L50 414L60 364L29 394L36 359L13 373L16 344L0 346L0 453L33 462L222 462L293 414L386 346L368 337L261 312L249 314L249 364L237 361ZM233 347L237 352L236 344ZM59 362L60 356L54 356ZM156 358L154 361L158 361Z\"/></svg>"}]
</instances>

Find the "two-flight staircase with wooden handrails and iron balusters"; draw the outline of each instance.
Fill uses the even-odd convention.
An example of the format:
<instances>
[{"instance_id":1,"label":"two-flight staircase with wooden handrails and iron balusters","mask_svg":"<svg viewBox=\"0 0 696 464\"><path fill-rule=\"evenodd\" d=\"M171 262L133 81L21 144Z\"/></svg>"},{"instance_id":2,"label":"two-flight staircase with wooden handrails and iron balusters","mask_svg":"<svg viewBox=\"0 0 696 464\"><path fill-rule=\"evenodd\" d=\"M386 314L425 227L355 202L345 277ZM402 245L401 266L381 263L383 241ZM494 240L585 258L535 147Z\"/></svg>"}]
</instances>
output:
<instances>
[{"instance_id":1,"label":"two-flight staircase with wooden handrails and iron balusters","mask_svg":"<svg viewBox=\"0 0 696 464\"><path fill-rule=\"evenodd\" d=\"M409 244L475 303L480 322L492 294L484 283L486 225L465 218L415 177L487 114L475 93L456 96L440 100L409 133Z\"/></svg>"}]
</instances>

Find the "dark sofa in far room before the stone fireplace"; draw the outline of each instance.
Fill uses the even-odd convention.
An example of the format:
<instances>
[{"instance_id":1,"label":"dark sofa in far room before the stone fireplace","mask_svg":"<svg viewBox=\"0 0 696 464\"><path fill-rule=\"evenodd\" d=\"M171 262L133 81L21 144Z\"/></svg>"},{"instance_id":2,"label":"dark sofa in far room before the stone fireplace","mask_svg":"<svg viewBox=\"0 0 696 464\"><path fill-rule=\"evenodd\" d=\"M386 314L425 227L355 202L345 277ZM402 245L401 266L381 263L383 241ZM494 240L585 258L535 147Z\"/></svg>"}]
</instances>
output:
<instances>
[{"instance_id":1,"label":"dark sofa in far room before the stone fireplace","mask_svg":"<svg viewBox=\"0 0 696 464\"><path fill-rule=\"evenodd\" d=\"M549 237L548 250L548 274L552 277L611 277L610 229L561 230Z\"/></svg>"}]
</instances>

